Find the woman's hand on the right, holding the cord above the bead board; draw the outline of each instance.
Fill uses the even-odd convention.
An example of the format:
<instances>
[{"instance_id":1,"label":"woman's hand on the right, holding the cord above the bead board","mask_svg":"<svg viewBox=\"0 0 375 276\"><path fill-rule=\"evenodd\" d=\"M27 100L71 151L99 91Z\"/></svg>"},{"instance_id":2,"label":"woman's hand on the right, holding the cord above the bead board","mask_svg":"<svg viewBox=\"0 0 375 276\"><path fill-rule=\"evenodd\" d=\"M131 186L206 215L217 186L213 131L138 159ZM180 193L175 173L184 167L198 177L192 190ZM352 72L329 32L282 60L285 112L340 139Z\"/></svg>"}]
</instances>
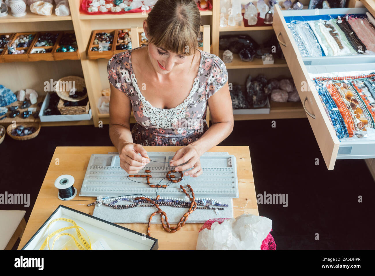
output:
<instances>
[{"instance_id":1,"label":"woman's hand on the right, holding the cord above the bead board","mask_svg":"<svg viewBox=\"0 0 375 276\"><path fill-rule=\"evenodd\" d=\"M180 165L185 162L187 163ZM175 171L184 171L192 168L184 172L184 176L190 175L190 177L198 177L203 172L199 153L193 145L186 145L177 150L169 164L171 166L177 166Z\"/></svg>"}]
</instances>

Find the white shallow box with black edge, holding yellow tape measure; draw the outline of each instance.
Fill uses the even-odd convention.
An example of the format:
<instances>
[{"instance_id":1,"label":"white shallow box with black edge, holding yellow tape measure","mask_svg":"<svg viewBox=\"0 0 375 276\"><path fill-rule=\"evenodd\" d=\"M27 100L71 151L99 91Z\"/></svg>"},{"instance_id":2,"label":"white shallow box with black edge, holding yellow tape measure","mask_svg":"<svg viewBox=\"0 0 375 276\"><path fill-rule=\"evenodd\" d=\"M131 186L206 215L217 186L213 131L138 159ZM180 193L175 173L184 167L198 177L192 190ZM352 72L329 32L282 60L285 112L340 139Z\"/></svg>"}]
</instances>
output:
<instances>
[{"instance_id":1,"label":"white shallow box with black edge, holding yellow tape measure","mask_svg":"<svg viewBox=\"0 0 375 276\"><path fill-rule=\"evenodd\" d=\"M31 237L31 239L26 243L22 250L38 250L40 246L42 246L44 240L48 235L47 228L49 223L59 217L72 219L77 223L78 226L81 226L83 229L85 229L90 236L92 245L98 240L104 240L112 250L156 250L159 247L157 239L142 235L141 233L90 216L89 214L82 213L72 208L59 205L57 209L51 214L51 216L46 220L46 222L43 223L39 230L34 234L34 236ZM72 226L71 223L68 224L69 225L67 225L67 222L57 221L53 225L51 225L51 228L49 230L55 231L62 227ZM71 230L75 233L75 229ZM82 229L80 229L80 231L86 237L86 233L84 233ZM52 244L52 241L50 241L50 244ZM55 247L57 246L58 245L56 243ZM46 246L45 249L48 250L48 247Z\"/></svg>"}]
</instances>

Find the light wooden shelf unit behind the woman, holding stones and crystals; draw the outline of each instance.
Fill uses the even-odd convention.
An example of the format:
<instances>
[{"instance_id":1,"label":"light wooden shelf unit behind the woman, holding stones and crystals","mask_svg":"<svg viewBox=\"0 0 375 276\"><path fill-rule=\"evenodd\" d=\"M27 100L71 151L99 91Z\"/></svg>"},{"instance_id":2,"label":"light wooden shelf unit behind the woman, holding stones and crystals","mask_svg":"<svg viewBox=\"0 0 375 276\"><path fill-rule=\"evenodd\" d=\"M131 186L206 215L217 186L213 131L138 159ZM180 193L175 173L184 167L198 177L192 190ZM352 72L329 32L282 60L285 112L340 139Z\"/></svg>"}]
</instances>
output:
<instances>
[{"instance_id":1,"label":"light wooden shelf unit behind the woman, holding stones and crystals","mask_svg":"<svg viewBox=\"0 0 375 276\"><path fill-rule=\"evenodd\" d=\"M23 87L9 87L14 92L19 89L25 89L26 87L34 88L37 90L39 95L43 95L43 82L53 78L53 81L57 81L59 78L66 75L77 75L84 77L86 81L87 93L89 96L90 107L92 109L92 120L89 121L66 121L66 122L51 122L41 123L42 126L50 125L80 125L80 124L94 124L96 127L100 123L108 123L109 114L100 114L98 112L98 100L101 96L101 91L108 88L107 79L107 60L98 59L90 60L87 57L86 49L89 44L89 39L93 30L101 29L124 29L131 28L132 26L142 26L143 20L147 17L147 13L125 13L121 15L86 15L80 13L80 1L68 0L71 15L68 17L56 16L54 14L50 16L36 15L28 10L25 17L13 17L7 15L6 17L0 18L0 31L2 32L21 32L21 31L57 31L57 30L74 30L77 38L78 56L80 60L63 60L63 61L50 61L46 62L33 62L26 66L26 63L8 63L5 67L6 71L13 72L21 68L21 72L26 75L27 81L22 85ZM219 54L219 35L221 31L263 31L272 30L272 26L260 26L260 27L227 27L220 28L220 0L212 0L213 9L207 11L201 11L202 25L211 25L211 52L215 55L222 57ZM48 23L48 24L46 24ZM5 63L1 63L0 66L5 66ZM25 67L26 66L26 67ZM275 60L273 65L263 65L260 59L255 59L253 62L242 62L238 55L235 57L233 63L227 64L228 69L247 69L243 71L245 74L249 72L258 71L272 71L282 72L287 64L283 60ZM35 71L39 68L43 68L42 72L35 74ZM272 68L272 70L269 70ZM257 69L256 71L252 69ZM20 72L20 74L22 74ZM33 72L33 73L31 73ZM9 73L10 74L10 73ZM8 74L8 75L9 75ZM275 73L276 74L276 73ZM9 78L8 75L5 77ZM36 78L36 79L34 79ZM245 78L244 78L245 80ZM229 80L230 81L230 80ZM38 83L37 87L34 84ZM5 84L9 84L5 83ZM5 85L10 86L10 85ZM297 115L298 114L298 115ZM302 112L300 107L293 107L284 105L284 107L274 107L271 105L271 113L266 115L235 115L237 120L253 120L262 118L294 118L294 117L305 117L304 111ZM135 122L134 118L131 117L131 121Z\"/></svg>"}]
</instances>

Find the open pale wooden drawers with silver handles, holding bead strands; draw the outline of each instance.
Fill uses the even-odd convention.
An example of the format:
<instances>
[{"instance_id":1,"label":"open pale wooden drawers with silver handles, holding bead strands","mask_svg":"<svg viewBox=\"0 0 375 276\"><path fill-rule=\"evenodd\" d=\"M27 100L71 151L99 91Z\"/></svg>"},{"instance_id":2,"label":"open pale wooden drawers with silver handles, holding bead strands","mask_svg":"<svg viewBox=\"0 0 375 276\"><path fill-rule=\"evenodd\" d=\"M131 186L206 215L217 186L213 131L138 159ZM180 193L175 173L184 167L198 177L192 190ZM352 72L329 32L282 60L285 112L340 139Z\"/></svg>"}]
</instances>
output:
<instances>
[{"instance_id":1,"label":"open pale wooden drawers with silver handles, holding bead strands","mask_svg":"<svg viewBox=\"0 0 375 276\"><path fill-rule=\"evenodd\" d=\"M320 9L321 15L331 14L362 14L363 8ZM315 10L281 10L275 6L273 29L281 45L294 83L303 103L311 128L317 139L320 151L327 168L332 170L336 159L375 158L375 141L356 139L350 142L340 142L335 130L330 124L326 111L321 104L315 87L312 85L311 74L325 74L345 71L375 71L375 56L363 55L355 57L319 57L302 58L296 41L289 30L284 17L314 16ZM314 19L316 20L316 19Z\"/></svg>"}]
</instances>

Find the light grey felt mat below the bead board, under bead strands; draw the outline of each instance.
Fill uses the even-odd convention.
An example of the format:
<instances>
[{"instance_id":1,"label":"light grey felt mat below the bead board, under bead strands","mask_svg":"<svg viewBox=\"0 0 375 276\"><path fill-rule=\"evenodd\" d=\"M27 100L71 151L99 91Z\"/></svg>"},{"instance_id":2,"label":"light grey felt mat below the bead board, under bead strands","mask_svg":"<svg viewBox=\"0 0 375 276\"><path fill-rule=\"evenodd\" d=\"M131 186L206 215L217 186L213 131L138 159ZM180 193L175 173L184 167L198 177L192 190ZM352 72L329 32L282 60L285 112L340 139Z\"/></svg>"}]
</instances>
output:
<instances>
[{"instance_id":1,"label":"light grey felt mat below the bead board, under bead strands","mask_svg":"<svg viewBox=\"0 0 375 276\"><path fill-rule=\"evenodd\" d=\"M102 197L103 198L103 197ZM222 204L228 204L228 207L223 207L224 210L217 210L217 214L215 210L202 210L196 209L189 215L189 219L186 223L192 222L206 222L209 219L215 218L232 218L233 217L233 202L231 198L221 198L220 202ZM111 203L111 202L107 202ZM123 200L118 202L117 204L127 205L133 204L131 201ZM142 204L150 204L150 203L142 203ZM139 205L142 205L139 204ZM220 208L219 206L210 205L210 207ZM186 213L189 208L178 208L178 207L170 207L170 206L162 206L160 205L160 209L162 209L168 216L168 222L171 223L178 223L181 217ZM153 212L156 212L156 207L133 207L128 209L114 209L113 207L108 206L95 206L93 216L98 217L100 219L107 220L113 223L148 223L148 219ZM151 223L161 224L160 222L160 214L156 214Z\"/></svg>"}]
</instances>

